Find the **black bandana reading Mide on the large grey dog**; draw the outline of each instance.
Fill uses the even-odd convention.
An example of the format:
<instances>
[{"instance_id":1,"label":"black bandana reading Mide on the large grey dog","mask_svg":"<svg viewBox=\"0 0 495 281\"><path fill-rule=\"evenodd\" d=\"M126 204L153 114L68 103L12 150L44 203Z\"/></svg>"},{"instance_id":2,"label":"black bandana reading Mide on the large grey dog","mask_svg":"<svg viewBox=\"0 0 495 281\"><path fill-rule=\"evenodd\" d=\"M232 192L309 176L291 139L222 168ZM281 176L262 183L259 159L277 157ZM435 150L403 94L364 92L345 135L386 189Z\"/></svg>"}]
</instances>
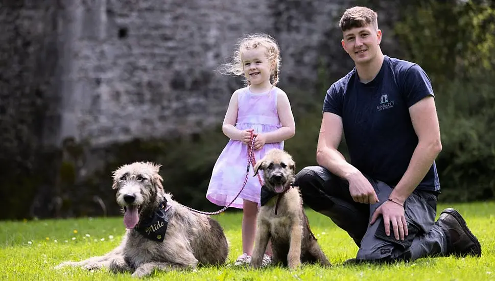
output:
<instances>
[{"instance_id":1,"label":"black bandana reading Mide on the large grey dog","mask_svg":"<svg viewBox=\"0 0 495 281\"><path fill-rule=\"evenodd\" d=\"M147 219L140 221L134 229L141 233L149 240L163 242L167 226L169 224L167 212L170 205L167 205L167 199L163 198L160 206Z\"/></svg>"}]
</instances>

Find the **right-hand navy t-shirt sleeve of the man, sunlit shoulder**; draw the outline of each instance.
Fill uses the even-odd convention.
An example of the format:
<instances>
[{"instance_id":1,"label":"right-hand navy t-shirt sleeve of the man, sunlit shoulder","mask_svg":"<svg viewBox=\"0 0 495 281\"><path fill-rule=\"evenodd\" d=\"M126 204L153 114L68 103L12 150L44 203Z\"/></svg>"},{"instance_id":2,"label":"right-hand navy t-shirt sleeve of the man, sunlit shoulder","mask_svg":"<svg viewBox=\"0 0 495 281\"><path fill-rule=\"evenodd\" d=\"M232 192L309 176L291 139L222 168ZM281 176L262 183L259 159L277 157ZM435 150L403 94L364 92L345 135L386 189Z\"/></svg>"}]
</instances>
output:
<instances>
[{"instance_id":1,"label":"right-hand navy t-shirt sleeve of the man, sunlit shoulder","mask_svg":"<svg viewBox=\"0 0 495 281\"><path fill-rule=\"evenodd\" d=\"M409 67L405 73L403 93L408 107L427 96L435 97L430 78L417 64Z\"/></svg>"}]
</instances>

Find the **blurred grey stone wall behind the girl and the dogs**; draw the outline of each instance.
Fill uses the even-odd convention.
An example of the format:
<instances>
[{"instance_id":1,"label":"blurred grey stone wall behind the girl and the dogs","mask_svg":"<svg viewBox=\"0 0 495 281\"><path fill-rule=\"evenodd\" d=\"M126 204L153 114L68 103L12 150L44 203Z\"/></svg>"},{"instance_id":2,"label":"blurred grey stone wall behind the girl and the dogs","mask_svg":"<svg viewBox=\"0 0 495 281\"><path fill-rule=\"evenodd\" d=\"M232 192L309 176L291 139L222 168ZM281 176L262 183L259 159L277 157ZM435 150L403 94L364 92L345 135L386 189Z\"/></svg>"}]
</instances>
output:
<instances>
[{"instance_id":1,"label":"blurred grey stone wall behind the girl and the dogs","mask_svg":"<svg viewBox=\"0 0 495 281\"><path fill-rule=\"evenodd\" d=\"M340 46L338 18L356 3L3 1L0 160L9 168L0 170L0 197L14 207L0 219L98 215L95 205L114 201L110 171L139 158L114 156L139 150L132 146L136 139L220 131L242 81L216 69L243 34L278 40L279 86L293 107L301 99L322 101L321 88L352 67ZM393 17L383 18L384 35L390 34ZM393 49L391 36L385 38L382 48Z\"/></svg>"}]
</instances>

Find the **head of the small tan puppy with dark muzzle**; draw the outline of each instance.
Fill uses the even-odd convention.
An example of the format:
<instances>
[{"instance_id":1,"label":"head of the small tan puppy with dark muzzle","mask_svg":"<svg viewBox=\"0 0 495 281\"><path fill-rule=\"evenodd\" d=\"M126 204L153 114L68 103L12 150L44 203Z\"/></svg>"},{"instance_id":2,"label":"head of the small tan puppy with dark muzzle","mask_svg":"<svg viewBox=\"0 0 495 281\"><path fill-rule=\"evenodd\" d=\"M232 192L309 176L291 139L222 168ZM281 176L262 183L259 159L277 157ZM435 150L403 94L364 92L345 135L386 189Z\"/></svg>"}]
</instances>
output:
<instances>
[{"instance_id":1,"label":"head of the small tan puppy with dark muzzle","mask_svg":"<svg viewBox=\"0 0 495 281\"><path fill-rule=\"evenodd\" d=\"M282 193L289 189L294 180L296 165L289 153L280 149L272 149L256 163L254 175L260 169L263 170L266 188Z\"/></svg>"}]
</instances>

